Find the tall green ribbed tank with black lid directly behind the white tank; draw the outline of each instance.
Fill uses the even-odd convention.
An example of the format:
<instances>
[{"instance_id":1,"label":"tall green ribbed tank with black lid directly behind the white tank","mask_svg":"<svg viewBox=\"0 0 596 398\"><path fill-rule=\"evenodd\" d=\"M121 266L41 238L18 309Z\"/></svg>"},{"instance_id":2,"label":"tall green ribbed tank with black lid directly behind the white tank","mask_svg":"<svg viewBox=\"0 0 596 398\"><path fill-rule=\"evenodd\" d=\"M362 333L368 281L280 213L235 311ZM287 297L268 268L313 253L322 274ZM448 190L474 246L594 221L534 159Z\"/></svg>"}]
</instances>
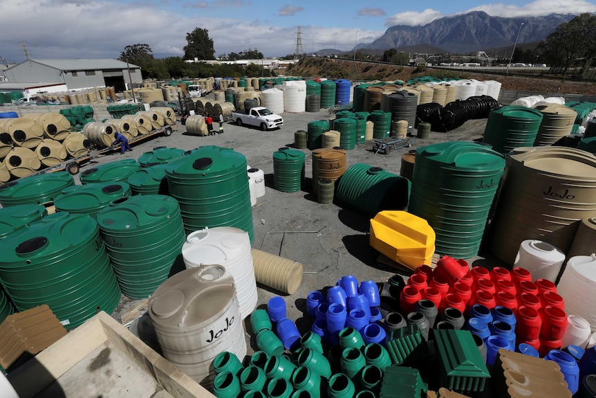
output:
<instances>
[{"instance_id":1,"label":"tall green ribbed tank with black lid directly behind the white tank","mask_svg":"<svg viewBox=\"0 0 596 398\"><path fill-rule=\"evenodd\" d=\"M180 203L187 234L205 227L234 226L254 242L246 158L231 148L209 145L167 163L171 197Z\"/></svg>"}]
</instances>

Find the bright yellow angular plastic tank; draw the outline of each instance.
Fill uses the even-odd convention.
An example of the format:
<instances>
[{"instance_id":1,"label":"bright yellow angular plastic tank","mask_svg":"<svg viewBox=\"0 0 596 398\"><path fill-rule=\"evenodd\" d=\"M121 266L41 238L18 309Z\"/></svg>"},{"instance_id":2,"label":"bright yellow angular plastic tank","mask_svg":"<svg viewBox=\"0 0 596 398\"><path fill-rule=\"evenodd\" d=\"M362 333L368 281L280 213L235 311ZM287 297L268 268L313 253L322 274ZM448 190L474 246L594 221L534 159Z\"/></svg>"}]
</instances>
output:
<instances>
[{"instance_id":1,"label":"bright yellow angular plastic tank","mask_svg":"<svg viewBox=\"0 0 596 398\"><path fill-rule=\"evenodd\" d=\"M435 231L425 219L402 210L383 210L371 219L370 244L410 269L432 264Z\"/></svg>"}]
</instances>

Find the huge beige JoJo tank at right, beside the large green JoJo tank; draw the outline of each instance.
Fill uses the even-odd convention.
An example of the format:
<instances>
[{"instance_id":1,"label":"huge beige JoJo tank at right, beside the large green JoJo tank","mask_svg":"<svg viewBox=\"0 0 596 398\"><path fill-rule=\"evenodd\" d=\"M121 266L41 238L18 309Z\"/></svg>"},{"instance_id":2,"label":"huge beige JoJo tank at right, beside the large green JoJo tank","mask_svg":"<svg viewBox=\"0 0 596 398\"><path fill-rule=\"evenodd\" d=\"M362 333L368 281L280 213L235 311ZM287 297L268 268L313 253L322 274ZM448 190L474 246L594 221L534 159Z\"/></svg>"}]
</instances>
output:
<instances>
[{"instance_id":1,"label":"huge beige JoJo tank at right, beside the large green JoJo tank","mask_svg":"<svg viewBox=\"0 0 596 398\"><path fill-rule=\"evenodd\" d=\"M513 264L525 239L567 253L581 219L596 217L596 156L588 152L518 148L507 156L501 185L491 247L507 264Z\"/></svg>"}]
</instances>

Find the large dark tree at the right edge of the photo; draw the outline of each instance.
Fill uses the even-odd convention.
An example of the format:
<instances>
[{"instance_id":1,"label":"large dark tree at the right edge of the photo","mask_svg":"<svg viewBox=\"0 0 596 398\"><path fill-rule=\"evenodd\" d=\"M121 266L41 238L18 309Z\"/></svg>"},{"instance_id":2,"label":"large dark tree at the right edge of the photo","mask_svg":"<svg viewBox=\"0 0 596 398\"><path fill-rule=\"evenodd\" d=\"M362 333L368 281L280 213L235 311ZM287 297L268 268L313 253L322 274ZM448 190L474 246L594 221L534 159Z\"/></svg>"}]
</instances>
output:
<instances>
[{"instance_id":1,"label":"large dark tree at the right edge of the photo","mask_svg":"<svg viewBox=\"0 0 596 398\"><path fill-rule=\"evenodd\" d=\"M560 24L539 44L539 51L554 71L566 73L579 62L585 73L595 57L596 15L586 12Z\"/></svg>"}]
</instances>

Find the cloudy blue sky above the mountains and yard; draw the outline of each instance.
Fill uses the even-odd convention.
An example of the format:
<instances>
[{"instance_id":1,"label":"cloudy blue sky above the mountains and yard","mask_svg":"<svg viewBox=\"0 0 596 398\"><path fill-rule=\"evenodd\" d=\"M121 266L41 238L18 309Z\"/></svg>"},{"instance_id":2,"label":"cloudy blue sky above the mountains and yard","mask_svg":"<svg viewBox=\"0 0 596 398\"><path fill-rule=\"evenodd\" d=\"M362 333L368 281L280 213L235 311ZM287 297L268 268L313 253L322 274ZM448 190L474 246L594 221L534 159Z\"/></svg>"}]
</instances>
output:
<instances>
[{"instance_id":1,"label":"cloudy blue sky above the mountains and yard","mask_svg":"<svg viewBox=\"0 0 596 398\"><path fill-rule=\"evenodd\" d=\"M148 44L156 57L184 55L186 34L205 28L215 55L257 48L266 57L302 47L349 51L398 24L424 25L483 10L499 17L596 12L596 0L313 1L313 0L0 0L0 59L117 58Z\"/></svg>"}]
</instances>

